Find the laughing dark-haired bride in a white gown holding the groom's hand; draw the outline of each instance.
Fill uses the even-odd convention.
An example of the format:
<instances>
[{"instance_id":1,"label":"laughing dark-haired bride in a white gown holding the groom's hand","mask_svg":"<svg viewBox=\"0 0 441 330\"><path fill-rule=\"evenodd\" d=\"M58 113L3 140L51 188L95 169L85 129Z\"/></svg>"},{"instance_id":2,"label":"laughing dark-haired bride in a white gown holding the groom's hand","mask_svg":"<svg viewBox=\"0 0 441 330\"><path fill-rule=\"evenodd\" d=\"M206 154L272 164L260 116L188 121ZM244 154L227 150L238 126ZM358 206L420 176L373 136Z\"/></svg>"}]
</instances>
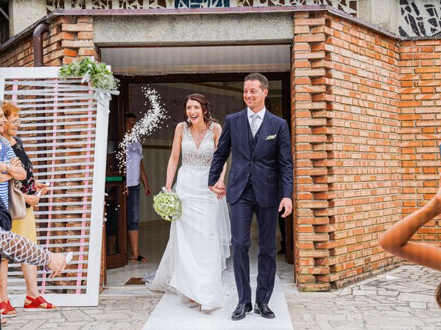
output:
<instances>
[{"instance_id":1,"label":"laughing dark-haired bride in a white gown holding the groom's hand","mask_svg":"<svg viewBox=\"0 0 441 330\"><path fill-rule=\"evenodd\" d=\"M187 96L183 108L184 122L176 126L165 184L172 191L182 151L176 180L182 216L172 221L161 263L153 281L146 285L152 291L176 292L189 307L209 312L222 305L220 274L225 269L231 241L225 185L218 190L217 198L207 185L222 129L213 122L205 96ZM225 169L218 184L223 185Z\"/></svg>"}]
</instances>

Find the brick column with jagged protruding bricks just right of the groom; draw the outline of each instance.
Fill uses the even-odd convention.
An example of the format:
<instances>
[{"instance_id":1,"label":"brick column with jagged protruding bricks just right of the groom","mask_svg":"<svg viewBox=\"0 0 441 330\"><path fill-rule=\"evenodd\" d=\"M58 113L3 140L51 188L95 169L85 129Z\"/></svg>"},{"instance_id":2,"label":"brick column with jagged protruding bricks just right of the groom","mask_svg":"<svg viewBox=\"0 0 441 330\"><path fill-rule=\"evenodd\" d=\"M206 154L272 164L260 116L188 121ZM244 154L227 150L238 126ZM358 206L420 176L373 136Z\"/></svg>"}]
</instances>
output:
<instances>
[{"instance_id":1,"label":"brick column with jagged protruding bricks just right of the groom","mask_svg":"<svg viewBox=\"0 0 441 330\"><path fill-rule=\"evenodd\" d=\"M292 58L296 278L300 290L329 290L331 129L327 111L325 17L294 14Z\"/></svg>"}]
</instances>

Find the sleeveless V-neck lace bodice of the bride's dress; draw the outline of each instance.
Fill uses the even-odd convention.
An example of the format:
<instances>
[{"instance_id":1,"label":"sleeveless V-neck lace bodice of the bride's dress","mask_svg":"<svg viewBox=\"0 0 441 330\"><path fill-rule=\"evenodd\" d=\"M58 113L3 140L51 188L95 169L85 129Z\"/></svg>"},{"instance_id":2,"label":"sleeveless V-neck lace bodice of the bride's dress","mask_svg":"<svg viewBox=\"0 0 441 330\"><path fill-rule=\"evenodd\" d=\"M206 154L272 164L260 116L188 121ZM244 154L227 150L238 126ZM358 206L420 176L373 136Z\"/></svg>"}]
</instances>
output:
<instances>
[{"instance_id":1,"label":"sleeveless V-neck lace bodice of the bride's dress","mask_svg":"<svg viewBox=\"0 0 441 330\"><path fill-rule=\"evenodd\" d=\"M214 138L213 126L210 124L207 133L203 137L201 144L196 148L192 132L187 123L184 123L184 131L182 137L182 164L192 166L210 166L213 161Z\"/></svg>"}]
</instances>

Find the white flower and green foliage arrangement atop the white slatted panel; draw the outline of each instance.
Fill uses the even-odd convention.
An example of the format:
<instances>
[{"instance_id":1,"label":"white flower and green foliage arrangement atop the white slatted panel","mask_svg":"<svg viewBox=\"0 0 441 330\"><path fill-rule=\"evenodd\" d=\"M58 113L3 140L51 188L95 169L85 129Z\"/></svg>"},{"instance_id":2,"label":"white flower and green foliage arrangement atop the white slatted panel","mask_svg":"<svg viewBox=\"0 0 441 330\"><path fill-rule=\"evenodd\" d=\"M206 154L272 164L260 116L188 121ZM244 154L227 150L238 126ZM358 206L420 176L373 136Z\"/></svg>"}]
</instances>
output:
<instances>
[{"instance_id":1,"label":"white flower and green foliage arrangement atop the white slatted panel","mask_svg":"<svg viewBox=\"0 0 441 330\"><path fill-rule=\"evenodd\" d=\"M119 79L107 69L105 63L96 62L93 57L82 57L72 63L63 65L59 69L59 77L63 80L68 78L83 78L92 87L103 91L116 91Z\"/></svg>"}]
</instances>

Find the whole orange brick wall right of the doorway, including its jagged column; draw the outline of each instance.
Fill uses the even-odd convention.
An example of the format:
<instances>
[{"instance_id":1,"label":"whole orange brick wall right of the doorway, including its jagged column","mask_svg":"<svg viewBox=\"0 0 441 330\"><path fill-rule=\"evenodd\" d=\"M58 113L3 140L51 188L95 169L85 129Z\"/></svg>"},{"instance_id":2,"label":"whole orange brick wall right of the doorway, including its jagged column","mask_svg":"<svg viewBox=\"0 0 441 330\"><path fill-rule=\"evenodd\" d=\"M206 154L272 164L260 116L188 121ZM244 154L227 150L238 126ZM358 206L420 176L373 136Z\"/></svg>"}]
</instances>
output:
<instances>
[{"instance_id":1,"label":"whole orange brick wall right of the doorway, including its jagged column","mask_svg":"<svg viewBox=\"0 0 441 330\"><path fill-rule=\"evenodd\" d=\"M440 56L440 41L403 42L332 14L294 14L300 289L340 287L403 263L378 237L438 186ZM414 239L439 241L437 221Z\"/></svg>"}]
</instances>

